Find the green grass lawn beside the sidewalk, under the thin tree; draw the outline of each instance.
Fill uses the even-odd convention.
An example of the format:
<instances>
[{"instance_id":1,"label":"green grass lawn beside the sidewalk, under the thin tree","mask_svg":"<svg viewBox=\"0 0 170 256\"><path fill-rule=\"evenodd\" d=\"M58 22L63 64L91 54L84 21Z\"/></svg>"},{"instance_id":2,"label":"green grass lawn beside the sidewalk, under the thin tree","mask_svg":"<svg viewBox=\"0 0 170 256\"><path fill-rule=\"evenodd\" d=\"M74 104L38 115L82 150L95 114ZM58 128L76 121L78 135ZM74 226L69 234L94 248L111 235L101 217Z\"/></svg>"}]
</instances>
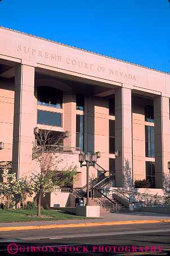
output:
<instances>
[{"instance_id":1,"label":"green grass lawn beside the sidewalk, under the thin tree","mask_svg":"<svg viewBox=\"0 0 170 256\"><path fill-rule=\"evenodd\" d=\"M37 215L37 210L0 210L0 222L31 222L35 220L71 220L71 219L95 219L66 214L57 210L41 210L41 214L51 216L52 218L37 218L32 215Z\"/></svg>"}]
</instances>

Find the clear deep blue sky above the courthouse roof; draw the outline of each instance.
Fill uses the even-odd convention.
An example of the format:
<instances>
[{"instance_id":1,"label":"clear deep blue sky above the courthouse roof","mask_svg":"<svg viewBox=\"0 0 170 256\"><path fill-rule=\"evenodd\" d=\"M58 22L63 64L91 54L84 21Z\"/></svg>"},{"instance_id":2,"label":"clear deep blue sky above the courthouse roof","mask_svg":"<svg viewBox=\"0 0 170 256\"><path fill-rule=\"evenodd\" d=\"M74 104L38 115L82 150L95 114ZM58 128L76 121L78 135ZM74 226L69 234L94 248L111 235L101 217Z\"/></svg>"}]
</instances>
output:
<instances>
[{"instance_id":1,"label":"clear deep blue sky above the courthouse roof","mask_svg":"<svg viewBox=\"0 0 170 256\"><path fill-rule=\"evenodd\" d=\"M168 0L2 0L0 24L170 72Z\"/></svg>"}]
</instances>

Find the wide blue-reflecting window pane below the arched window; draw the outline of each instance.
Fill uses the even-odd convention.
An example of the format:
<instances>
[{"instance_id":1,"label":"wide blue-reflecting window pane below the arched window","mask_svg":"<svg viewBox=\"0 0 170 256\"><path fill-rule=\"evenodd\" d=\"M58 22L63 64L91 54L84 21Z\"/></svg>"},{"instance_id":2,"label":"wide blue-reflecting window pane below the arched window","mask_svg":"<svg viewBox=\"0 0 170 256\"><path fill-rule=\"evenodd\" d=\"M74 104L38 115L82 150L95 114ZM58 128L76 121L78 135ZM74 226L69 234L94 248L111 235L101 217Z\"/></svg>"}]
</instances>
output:
<instances>
[{"instance_id":1,"label":"wide blue-reflecting window pane below the arched window","mask_svg":"<svg viewBox=\"0 0 170 256\"><path fill-rule=\"evenodd\" d=\"M38 110L37 123L61 127L61 114Z\"/></svg>"}]
</instances>

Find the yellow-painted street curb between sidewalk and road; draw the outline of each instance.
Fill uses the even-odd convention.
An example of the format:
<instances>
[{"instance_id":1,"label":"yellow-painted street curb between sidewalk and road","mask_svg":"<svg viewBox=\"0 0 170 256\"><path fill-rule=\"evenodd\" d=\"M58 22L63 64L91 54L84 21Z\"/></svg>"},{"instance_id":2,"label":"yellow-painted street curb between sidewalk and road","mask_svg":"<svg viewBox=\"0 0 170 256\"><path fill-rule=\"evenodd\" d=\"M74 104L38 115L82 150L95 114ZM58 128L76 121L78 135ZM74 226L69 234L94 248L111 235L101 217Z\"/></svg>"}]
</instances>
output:
<instances>
[{"instance_id":1,"label":"yellow-painted street curb between sidewalk and road","mask_svg":"<svg viewBox=\"0 0 170 256\"><path fill-rule=\"evenodd\" d=\"M50 229L50 228L79 228L79 227L94 227L100 225L128 225L128 224L146 224L146 223L161 223L170 222L170 219L161 220L127 220L122 222L90 222L90 223L75 223L75 224L53 224L53 225L35 225L35 226L19 226L19 227L0 227L0 231L18 231L29 229Z\"/></svg>"}]
</instances>

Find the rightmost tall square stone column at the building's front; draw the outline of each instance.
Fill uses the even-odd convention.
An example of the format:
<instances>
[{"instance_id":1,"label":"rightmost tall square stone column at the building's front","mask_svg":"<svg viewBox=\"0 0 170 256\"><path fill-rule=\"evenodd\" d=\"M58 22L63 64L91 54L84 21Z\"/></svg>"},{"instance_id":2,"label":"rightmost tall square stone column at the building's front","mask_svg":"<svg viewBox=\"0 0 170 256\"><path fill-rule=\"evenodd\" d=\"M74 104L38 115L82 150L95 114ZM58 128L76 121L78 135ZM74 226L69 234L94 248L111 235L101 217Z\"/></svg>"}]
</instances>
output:
<instances>
[{"instance_id":1,"label":"rightmost tall square stone column at the building's front","mask_svg":"<svg viewBox=\"0 0 170 256\"><path fill-rule=\"evenodd\" d=\"M170 160L169 98L158 96L154 99L155 123L155 186L163 188L169 182L167 174Z\"/></svg>"}]
</instances>

